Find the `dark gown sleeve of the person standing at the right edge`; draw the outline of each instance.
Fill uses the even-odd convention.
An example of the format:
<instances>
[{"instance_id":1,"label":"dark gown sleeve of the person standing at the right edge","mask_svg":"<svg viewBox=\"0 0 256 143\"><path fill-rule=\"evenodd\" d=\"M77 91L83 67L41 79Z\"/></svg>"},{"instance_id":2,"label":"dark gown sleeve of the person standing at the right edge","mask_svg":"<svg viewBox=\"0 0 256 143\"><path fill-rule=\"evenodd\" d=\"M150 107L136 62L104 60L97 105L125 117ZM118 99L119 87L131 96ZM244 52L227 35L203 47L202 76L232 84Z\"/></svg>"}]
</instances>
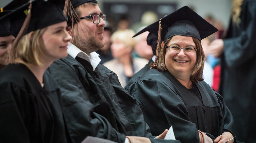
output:
<instances>
[{"instance_id":1,"label":"dark gown sleeve of the person standing at the right edge","mask_svg":"<svg viewBox=\"0 0 256 143\"><path fill-rule=\"evenodd\" d=\"M241 14L244 16L241 17L240 27L236 27L240 34L235 36L233 34L230 35L232 38L223 39L224 59L228 67L240 67L256 56L256 2L245 3ZM236 25L230 24L235 28Z\"/></svg>"}]
</instances>

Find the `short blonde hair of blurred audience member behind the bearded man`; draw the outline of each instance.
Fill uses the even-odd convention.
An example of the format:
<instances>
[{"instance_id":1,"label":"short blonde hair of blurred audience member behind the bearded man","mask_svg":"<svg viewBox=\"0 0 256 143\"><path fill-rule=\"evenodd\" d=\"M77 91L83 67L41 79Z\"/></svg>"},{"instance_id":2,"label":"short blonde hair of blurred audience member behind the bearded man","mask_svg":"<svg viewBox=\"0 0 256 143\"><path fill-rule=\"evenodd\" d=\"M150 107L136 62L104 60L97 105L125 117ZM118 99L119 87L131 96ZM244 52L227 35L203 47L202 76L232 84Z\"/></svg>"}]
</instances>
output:
<instances>
[{"instance_id":1,"label":"short blonde hair of blurred audience member behind the bearded man","mask_svg":"<svg viewBox=\"0 0 256 143\"><path fill-rule=\"evenodd\" d=\"M136 44L136 41L132 36L135 35L135 32L131 29L125 29L125 30L117 30L111 35L111 41L118 39L122 43L125 44L126 47L134 49L134 46Z\"/></svg>"}]
</instances>

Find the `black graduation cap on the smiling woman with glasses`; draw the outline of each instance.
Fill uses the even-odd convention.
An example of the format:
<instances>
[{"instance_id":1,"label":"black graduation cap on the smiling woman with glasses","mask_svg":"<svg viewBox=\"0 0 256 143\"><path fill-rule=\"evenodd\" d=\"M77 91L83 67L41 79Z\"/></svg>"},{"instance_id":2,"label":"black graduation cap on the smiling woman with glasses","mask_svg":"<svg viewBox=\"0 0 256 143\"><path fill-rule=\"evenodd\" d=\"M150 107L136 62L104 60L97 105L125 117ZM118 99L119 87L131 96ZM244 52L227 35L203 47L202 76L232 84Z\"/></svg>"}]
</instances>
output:
<instances>
[{"instance_id":1,"label":"black graduation cap on the smiling woman with glasses","mask_svg":"<svg viewBox=\"0 0 256 143\"><path fill-rule=\"evenodd\" d=\"M201 41L201 39L218 31L217 28L204 20L204 18L195 13L188 6L183 6L162 18L161 27L161 40L163 41L166 41L174 35L191 36ZM155 35L158 35L158 29L159 20L142 29L137 35L145 31L150 31Z\"/></svg>"}]
</instances>

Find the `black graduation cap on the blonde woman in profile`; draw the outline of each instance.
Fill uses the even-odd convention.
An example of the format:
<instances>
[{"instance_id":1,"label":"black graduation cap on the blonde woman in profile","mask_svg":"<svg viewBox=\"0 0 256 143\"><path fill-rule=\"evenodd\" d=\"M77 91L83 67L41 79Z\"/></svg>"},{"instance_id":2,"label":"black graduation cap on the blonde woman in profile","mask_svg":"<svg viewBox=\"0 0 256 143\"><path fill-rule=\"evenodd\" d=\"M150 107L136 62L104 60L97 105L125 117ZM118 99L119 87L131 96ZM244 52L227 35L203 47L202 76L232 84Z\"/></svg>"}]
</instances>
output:
<instances>
[{"instance_id":1,"label":"black graduation cap on the blonde woman in profile","mask_svg":"<svg viewBox=\"0 0 256 143\"><path fill-rule=\"evenodd\" d=\"M19 33L25 18L27 17L29 4L30 3L26 3L0 18L0 21L9 18L11 35L16 37ZM49 25L63 22L65 20L66 17L56 5L45 2L44 0L34 0L32 1L31 19L29 21L26 33L42 29Z\"/></svg>"}]
</instances>

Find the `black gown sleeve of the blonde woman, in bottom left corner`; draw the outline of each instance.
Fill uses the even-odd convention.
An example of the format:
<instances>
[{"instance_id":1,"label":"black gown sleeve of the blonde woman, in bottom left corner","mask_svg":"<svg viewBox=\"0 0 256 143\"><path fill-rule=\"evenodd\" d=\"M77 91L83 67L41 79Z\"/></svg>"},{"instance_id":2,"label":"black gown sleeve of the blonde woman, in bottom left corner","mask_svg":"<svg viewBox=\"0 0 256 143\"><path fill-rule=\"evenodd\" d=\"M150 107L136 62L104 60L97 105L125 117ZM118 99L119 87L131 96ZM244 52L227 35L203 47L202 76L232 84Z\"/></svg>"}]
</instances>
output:
<instances>
[{"instance_id":1,"label":"black gown sleeve of the blonde woman, in bottom left corner","mask_svg":"<svg viewBox=\"0 0 256 143\"><path fill-rule=\"evenodd\" d=\"M26 94L15 85L0 84L0 142L30 142L24 122L25 111L19 98Z\"/></svg>"}]
</instances>

